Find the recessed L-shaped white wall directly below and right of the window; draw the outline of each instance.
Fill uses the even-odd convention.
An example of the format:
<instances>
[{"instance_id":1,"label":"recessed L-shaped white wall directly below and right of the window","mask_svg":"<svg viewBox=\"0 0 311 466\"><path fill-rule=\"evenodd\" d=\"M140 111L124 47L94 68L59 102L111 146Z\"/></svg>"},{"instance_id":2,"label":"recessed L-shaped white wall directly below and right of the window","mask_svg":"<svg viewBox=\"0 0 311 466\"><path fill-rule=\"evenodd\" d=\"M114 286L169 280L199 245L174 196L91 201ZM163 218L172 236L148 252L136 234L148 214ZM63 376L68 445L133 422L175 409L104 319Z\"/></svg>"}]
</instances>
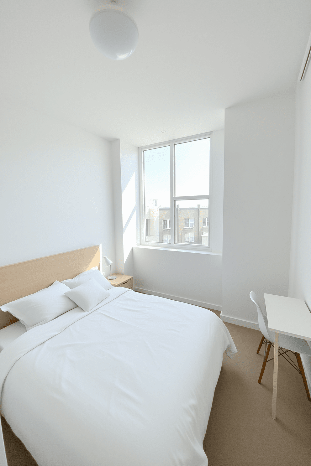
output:
<instances>
[{"instance_id":1,"label":"recessed L-shaped white wall directly below and right of the window","mask_svg":"<svg viewBox=\"0 0 311 466\"><path fill-rule=\"evenodd\" d=\"M139 291L221 310L224 131L213 133L213 253L161 247L133 248L134 287Z\"/></svg>"}]
</instances>

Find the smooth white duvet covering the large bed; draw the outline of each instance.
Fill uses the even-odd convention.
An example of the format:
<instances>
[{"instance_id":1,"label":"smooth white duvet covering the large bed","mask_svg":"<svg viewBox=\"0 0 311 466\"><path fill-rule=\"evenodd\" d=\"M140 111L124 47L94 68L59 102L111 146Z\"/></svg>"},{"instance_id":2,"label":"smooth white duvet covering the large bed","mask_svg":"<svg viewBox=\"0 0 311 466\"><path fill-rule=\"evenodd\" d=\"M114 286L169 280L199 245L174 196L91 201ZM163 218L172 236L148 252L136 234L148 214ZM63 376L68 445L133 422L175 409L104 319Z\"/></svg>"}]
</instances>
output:
<instances>
[{"instance_id":1,"label":"smooth white duvet covering the large bed","mask_svg":"<svg viewBox=\"0 0 311 466\"><path fill-rule=\"evenodd\" d=\"M227 328L207 309L110 293L0 353L1 412L39 466L206 466L222 355L236 352Z\"/></svg>"}]
</instances>

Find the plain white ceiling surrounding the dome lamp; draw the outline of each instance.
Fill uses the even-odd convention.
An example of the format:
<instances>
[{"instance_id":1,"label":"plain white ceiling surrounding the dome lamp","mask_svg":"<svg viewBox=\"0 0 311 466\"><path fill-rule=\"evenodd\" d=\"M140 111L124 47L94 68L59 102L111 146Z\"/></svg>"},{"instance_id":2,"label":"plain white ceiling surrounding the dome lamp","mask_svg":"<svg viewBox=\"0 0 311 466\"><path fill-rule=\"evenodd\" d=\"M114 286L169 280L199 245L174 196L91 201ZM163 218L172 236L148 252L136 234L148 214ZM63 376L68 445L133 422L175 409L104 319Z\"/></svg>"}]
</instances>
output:
<instances>
[{"instance_id":1,"label":"plain white ceiling surrounding the dome lamp","mask_svg":"<svg viewBox=\"0 0 311 466\"><path fill-rule=\"evenodd\" d=\"M0 96L145 145L221 129L225 108L295 88L310 0L119 0L139 30L120 62L90 39L106 3L1 0Z\"/></svg>"}]
</instances>

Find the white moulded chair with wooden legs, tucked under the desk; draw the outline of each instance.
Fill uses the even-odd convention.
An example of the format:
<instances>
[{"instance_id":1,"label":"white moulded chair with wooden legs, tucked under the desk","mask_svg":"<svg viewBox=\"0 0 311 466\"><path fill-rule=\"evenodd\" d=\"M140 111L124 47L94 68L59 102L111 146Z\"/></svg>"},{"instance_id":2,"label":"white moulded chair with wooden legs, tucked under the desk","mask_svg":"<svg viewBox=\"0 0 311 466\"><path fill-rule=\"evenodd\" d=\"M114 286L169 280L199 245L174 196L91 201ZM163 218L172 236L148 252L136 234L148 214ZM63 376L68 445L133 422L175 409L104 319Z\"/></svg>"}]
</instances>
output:
<instances>
[{"instance_id":1,"label":"white moulded chair with wooden legs, tucked under the desk","mask_svg":"<svg viewBox=\"0 0 311 466\"><path fill-rule=\"evenodd\" d=\"M263 372L268 362L271 345L274 347L275 333L269 330L267 316L265 315L265 313L263 313L262 309L260 308L258 304L258 298L254 291L251 291L249 293L249 297L252 300L252 302L256 305L259 329L263 334L263 338L261 339L261 342L259 343L259 347L257 349L257 354L259 353L263 343L265 343L263 367L261 369L260 376L258 379L258 384L260 384L261 379L263 377ZM297 365L296 363L294 363L294 361L292 361L288 353L293 353L296 356ZM279 334L279 355L283 356L286 359L286 361L290 363L301 374L304 381L304 388L307 393L308 400L311 401L310 392L307 380L305 378L304 366L301 362L300 353L311 356L311 347L305 340L302 340L301 338L297 338L295 336L283 335L282 333ZM269 361L271 361L271 359L269 359Z\"/></svg>"}]
</instances>

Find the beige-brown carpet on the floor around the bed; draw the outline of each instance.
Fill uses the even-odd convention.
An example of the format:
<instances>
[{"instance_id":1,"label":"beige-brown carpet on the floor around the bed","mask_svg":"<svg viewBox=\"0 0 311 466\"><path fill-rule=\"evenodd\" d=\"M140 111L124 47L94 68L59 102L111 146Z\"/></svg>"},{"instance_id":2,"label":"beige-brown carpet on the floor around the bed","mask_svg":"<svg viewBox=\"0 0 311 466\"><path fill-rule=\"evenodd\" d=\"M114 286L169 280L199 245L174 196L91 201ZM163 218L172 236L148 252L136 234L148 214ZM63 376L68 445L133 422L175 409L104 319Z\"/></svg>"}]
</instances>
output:
<instances>
[{"instance_id":1,"label":"beige-brown carpet on the floor around the bed","mask_svg":"<svg viewBox=\"0 0 311 466\"><path fill-rule=\"evenodd\" d=\"M263 363L263 348L260 355L256 354L261 334L257 330L226 325L238 354L232 360L226 355L223 358L204 439L209 466L310 465L311 403L302 377L283 358L279 359L274 421L271 418L273 361L266 366L262 384L257 383ZM36 466L6 421L3 418L1 421L8 465Z\"/></svg>"}]
</instances>

